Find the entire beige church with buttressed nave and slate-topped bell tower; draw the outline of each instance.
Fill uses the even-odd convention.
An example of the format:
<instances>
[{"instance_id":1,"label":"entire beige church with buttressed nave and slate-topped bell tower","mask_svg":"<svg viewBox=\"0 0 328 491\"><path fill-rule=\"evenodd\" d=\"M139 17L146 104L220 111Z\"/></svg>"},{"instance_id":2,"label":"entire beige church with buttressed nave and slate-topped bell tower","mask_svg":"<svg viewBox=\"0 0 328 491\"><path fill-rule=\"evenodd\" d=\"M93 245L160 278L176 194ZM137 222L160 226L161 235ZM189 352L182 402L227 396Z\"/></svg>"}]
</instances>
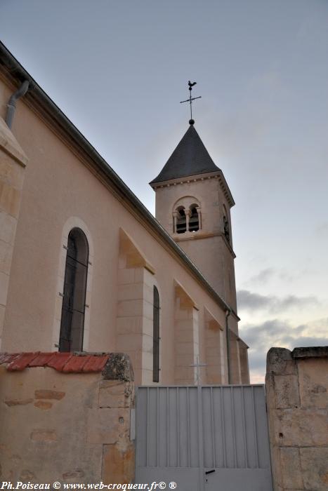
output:
<instances>
[{"instance_id":1,"label":"entire beige church with buttressed nave and slate-topped bell tower","mask_svg":"<svg viewBox=\"0 0 328 491\"><path fill-rule=\"evenodd\" d=\"M123 352L138 385L249 383L235 202L193 120L150 185L156 218L0 43L0 351Z\"/></svg>"}]
</instances>

